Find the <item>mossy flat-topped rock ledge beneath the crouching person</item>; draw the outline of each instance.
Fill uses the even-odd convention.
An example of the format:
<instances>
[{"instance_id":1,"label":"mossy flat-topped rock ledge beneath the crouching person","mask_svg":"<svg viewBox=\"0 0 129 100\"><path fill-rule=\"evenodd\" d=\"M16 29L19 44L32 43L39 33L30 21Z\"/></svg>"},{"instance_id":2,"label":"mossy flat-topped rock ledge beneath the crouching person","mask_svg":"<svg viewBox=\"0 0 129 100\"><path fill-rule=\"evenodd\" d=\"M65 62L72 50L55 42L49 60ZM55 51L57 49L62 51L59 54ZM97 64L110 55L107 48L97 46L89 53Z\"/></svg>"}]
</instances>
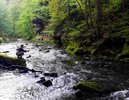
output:
<instances>
[{"instance_id":1,"label":"mossy flat-topped rock ledge beneath the crouching person","mask_svg":"<svg viewBox=\"0 0 129 100\"><path fill-rule=\"evenodd\" d=\"M11 65L26 66L26 61L24 59L17 59L6 55L0 55L0 64L5 66L11 66Z\"/></svg>"}]
</instances>

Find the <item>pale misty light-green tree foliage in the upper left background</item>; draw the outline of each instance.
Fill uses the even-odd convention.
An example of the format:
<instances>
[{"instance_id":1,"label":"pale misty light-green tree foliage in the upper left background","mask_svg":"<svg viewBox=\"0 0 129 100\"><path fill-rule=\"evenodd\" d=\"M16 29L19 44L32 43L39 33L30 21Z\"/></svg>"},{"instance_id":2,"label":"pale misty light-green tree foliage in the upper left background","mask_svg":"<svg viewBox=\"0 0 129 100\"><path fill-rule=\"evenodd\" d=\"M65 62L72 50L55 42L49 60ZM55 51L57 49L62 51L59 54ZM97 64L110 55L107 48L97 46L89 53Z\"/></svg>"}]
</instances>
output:
<instances>
[{"instance_id":1,"label":"pale misty light-green tree foliage in the upper left background","mask_svg":"<svg viewBox=\"0 0 129 100\"><path fill-rule=\"evenodd\" d=\"M39 17L48 22L49 10L40 3L46 0L10 0L0 2L0 26L4 33L10 32L14 35L32 38L35 34L33 19ZM3 3L4 2L4 3Z\"/></svg>"}]
</instances>

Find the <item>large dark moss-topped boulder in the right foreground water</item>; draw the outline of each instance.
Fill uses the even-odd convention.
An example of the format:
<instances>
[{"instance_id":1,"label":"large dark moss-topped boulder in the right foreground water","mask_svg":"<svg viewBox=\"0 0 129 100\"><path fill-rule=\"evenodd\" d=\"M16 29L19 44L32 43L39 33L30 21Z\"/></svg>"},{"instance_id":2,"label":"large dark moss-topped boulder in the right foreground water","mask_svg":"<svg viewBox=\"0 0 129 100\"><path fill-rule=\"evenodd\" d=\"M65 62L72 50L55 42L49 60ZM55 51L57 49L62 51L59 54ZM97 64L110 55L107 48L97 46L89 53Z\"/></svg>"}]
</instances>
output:
<instances>
[{"instance_id":1,"label":"large dark moss-topped boulder in the right foreground water","mask_svg":"<svg viewBox=\"0 0 129 100\"><path fill-rule=\"evenodd\" d=\"M77 91L75 92L77 97L100 96L120 90L117 85L110 82L79 82L73 87L73 89Z\"/></svg>"}]
</instances>

